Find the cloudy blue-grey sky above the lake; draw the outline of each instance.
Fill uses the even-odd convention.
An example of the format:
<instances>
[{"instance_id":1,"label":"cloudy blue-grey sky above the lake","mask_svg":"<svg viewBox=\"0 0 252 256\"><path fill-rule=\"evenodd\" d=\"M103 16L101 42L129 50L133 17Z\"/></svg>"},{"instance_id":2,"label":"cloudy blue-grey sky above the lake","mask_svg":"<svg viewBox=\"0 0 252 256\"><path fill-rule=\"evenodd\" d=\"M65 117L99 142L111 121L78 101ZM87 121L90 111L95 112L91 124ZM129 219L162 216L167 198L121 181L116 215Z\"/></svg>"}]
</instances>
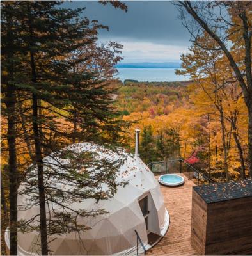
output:
<instances>
[{"instance_id":1,"label":"cloudy blue-grey sky above the lake","mask_svg":"<svg viewBox=\"0 0 252 256\"><path fill-rule=\"evenodd\" d=\"M99 40L123 44L123 62L179 61L188 52L189 33L178 19L178 11L169 1L124 1L128 12L98 1L64 3L71 8L86 7L83 15L109 26L100 31Z\"/></svg>"}]
</instances>

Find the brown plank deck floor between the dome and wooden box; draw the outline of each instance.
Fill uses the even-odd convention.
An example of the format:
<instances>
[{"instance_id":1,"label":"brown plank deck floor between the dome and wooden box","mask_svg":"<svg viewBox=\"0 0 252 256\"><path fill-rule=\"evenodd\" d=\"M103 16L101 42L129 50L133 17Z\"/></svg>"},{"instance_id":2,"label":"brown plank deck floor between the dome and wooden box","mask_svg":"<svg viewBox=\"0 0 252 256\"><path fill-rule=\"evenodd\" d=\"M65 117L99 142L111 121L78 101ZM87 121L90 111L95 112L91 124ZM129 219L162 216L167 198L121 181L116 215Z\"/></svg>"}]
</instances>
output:
<instances>
[{"instance_id":1,"label":"brown plank deck floor between the dome and wooden box","mask_svg":"<svg viewBox=\"0 0 252 256\"><path fill-rule=\"evenodd\" d=\"M185 184L177 188L161 185L164 203L169 212L170 224L166 235L147 252L147 255L197 255L191 246L192 187L185 176Z\"/></svg>"}]
</instances>

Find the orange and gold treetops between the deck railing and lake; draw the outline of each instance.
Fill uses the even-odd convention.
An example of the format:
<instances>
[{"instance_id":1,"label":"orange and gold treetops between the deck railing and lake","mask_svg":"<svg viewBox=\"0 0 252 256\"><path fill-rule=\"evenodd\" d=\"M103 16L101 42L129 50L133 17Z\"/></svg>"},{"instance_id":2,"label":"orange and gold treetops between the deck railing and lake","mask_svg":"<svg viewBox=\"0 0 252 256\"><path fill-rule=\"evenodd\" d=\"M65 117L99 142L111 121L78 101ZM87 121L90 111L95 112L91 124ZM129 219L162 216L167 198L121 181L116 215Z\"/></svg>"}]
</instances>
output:
<instances>
[{"instance_id":1,"label":"orange and gold treetops between the deck railing and lake","mask_svg":"<svg viewBox=\"0 0 252 256\"><path fill-rule=\"evenodd\" d=\"M212 179L220 181L225 179L224 129L227 167L231 179L243 177L237 140L248 176L248 116L244 100L240 97L239 84L230 83L223 89L224 92L220 91L216 95L218 99L221 97L224 116L222 124L216 102L209 98L210 90L214 88L211 89L212 85L205 78L202 82L206 88L198 81L191 81L187 86L183 83L160 82L122 86L118 91L116 107L123 120L134 122L127 138L129 148L134 150L132 134L134 129L139 128L140 156L146 164L181 158L201 172L207 175L210 173Z\"/></svg>"}]
</instances>

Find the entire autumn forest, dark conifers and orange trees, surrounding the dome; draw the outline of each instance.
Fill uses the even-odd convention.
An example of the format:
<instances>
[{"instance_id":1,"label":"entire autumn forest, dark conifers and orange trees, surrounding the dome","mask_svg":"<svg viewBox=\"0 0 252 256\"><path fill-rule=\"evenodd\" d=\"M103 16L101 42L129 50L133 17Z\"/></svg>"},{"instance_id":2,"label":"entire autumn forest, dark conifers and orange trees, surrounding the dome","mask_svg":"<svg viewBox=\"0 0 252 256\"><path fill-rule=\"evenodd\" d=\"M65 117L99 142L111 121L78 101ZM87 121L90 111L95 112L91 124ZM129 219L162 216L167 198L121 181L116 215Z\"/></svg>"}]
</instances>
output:
<instances>
[{"instance_id":1,"label":"entire autumn forest, dark conifers and orange trees, surrounding the dome","mask_svg":"<svg viewBox=\"0 0 252 256\"><path fill-rule=\"evenodd\" d=\"M121 1L100 4L104 12L107 6L127 12ZM88 229L79 216L105 214L63 202L112 198L122 185L115 181L122 163L74 154L71 144L133 153L140 129L145 164L184 159L214 182L252 177L252 3L172 4L191 35L176 70L190 76L187 81L115 79L123 45L100 43L99 31L107 26L83 17L84 8L65 8L61 1L1 2L1 254L17 255L19 232L38 231L39 252L49 255L52 234ZM48 156L63 173L47 168ZM59 157L70 164L62 166ZM102 175L93 177L90 166ZM74 191L56 188L58 180L73 182ZM40 213L19 219L19 195L32 195L22 207L36 205ZM49 218L47 204L64 211Z\"/></svg>"}]
</instances>

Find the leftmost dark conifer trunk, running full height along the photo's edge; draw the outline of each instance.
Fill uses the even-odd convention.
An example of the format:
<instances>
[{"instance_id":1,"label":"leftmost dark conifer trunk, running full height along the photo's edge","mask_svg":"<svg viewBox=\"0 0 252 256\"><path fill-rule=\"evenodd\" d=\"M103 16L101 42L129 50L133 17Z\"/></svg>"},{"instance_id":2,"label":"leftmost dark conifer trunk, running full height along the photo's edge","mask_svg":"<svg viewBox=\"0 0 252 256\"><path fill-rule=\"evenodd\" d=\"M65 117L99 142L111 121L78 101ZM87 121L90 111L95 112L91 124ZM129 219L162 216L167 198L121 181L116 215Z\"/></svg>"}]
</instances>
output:
<instances>
[{"instance_id":1,"label":"leftmost dark conifer trunk, running full height along the photo's edge","mask_svg":"<svg viewBox=\"0 0 252 256\"><path fill-rule=\"evenodd\" d=\"M19 29L14 26L14 13L15 5L13 3L1 3L1 83L2 103L5 104L2 113L8 123L6 137L8 141L8 186L10 191L10 255L17 255L17 188L19 179L16 150L17 88L14 72L15 68L18 68L17 63L19 62L15 52L17 49L15 35L19 33Z\"/></svg>"}]
</instances>

